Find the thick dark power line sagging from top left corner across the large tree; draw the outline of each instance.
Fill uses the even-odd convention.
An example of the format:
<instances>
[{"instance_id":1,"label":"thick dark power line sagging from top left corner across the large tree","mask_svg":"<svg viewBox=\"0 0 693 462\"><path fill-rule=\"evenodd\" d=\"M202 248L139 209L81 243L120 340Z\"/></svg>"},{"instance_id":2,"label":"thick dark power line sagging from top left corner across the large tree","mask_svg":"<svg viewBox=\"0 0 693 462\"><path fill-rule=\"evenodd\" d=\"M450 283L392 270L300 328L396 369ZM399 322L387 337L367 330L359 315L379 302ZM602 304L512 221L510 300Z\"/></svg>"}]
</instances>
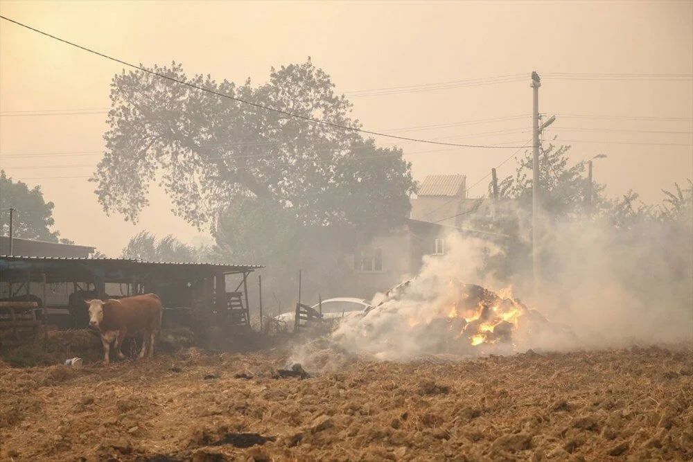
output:
<instances>
[{"instance_id":1,"label":"thick dark power line sagging from top left corner across the large tree","mask_svg":"<svg viewBox=\"0 0 693 462\"><path fill-rule=\"evenodd\" d=\"M328 127L339 128L339 129L341 129L341 130L349 130L349 131L352 131L352 132L366 133L366 134L370 134L370 135L373 135L373 136L385 136L385 137L387 137L387 138L400 139L400 140L403 140L403 141L415 141L415 142L417 142L417 143L428 143L428 144L455 146L455 147L457 147L457 148L479 148L479 149L512 149L512 148L518 148L518 146L464 145L464 144L459 144L459 143L446 143L446 142L443 142L443 141L430 141L430 140L425 140L425 139L409 138L409 137L407 137L407 136L389 135L389 134L384 134L384 133L379 133L379 132L373 132L373 131L371 131L371 130L363 130L363 129L357 128L357 127L348 127L348 126L345 126L345 125L339 125L339 124L337 124L337 123L332 123L332 122L328 122L328 121L320 121L320 120L318 120L318 119L316 119L316 118L312 118L312 117L308 117L308 116L301 116L300 114L292 114L291 112L283 111L282 109L274 109L274 108L272 108L272 107L267 107L267 106L265 106L265 105L261 105L261 104L258 104L258 103L253 103L252 101L243 100L243 99L241 99L241 98L236 98L235 96L230 96L230 95L227 95L227 94L222 94L222 93L220 93L219 91L215 91L215 90L207 89L207 88L204 88L204 87L200 87L199 85L195 85L195 84L190 83L190 82L184 82L183 80L178 80L178 79L176 79L176 78L169 77L168 75L160 74L160 73L157 73L157 72L155 72L155 71L150 71L149 69L145 69L145 68L143 68L143 67L141 67L141 66L135 66L134 64L130 64L129 62L125 62L125 61L120 60L120 59L118 59L118 58L116 58L116 57L112 57L112 56L109 56L109 55L105 55L104 53L100 53L100 52L98 52L98 51L94 51L94 50L92 50L91 48L87 48L87 47L85 47L85 46L81 46L81 45L75 44L75 43L73 43L73 42L69 42L69 41L67 41L67 40L65 40L65 39L61 39L61 38L59 38L59 37L55 37L55 35L51 35L51 34L49 34L49 33L43 32L42 30L38 30L38 29L33 28L33 27L31 27L31 26L27 26L26 24L22 24L21 22L15 21L14 19L9 19L8 17L2 16L2 15L0 15L0 18L1 18L1 19L4 19L4 20L6 20L6 21L9 21L9 22L11 22L11 23L13 23L13 24L17 24L17 26L21 26L21 27L27 28L28 30L33 30L33 32L35 32L35 33L40 33L41 35L45 35L46 37L50 37L50 38L52 38L52 39L58 40L59 42L62 42L62 43L64 43L64 44L68 44L68 45L70 45L70 46L74 46L74 47L76 47L76 48L80 48L80 50L87 51L87 52L89 52L89 53L92 53L92 54L94 54L94 55L98 55L98 56L100 56L100 57L104 57L104 58L106 58L107 60L111 60L111 61L114 61L114 62L118 62L119 64L123 64L124 66L131 67L132 69L138 69L139 71L143 71L143 72L149 73L149 74L151 74L151 75L156 75L156 76L159 77L159 78L163 78L163 79L166 79L166 80L170 80L171 82L175 82L175 83L177 83L177 84L179 84L179 85L186 85L186 87L190 87L190 88L197 89L197 90L200 90L200 91L206 91L206 92L209 93L209 94L213 94L213 95L216 95L216 96L220 96L221 98L227 98L227 99L229 99L229 100L237 101L238 103L243 103L243 104L246 104L246 105L250 105L250 106L253 106L253 107L257 107L257 108L259 108L259 109L265 109L265 110L267 110L267 111L276 112L277 114L283 114L283 115L285 115L285 116L289 116L289 117L293 117L293 118L299 118L299 119L301 119L301 120L308 121L308 122L310 122L310 123L317 123L317 124L320 124L320 125L326 125L326 126L328 126Z\"/></svg>"}]
</instances>

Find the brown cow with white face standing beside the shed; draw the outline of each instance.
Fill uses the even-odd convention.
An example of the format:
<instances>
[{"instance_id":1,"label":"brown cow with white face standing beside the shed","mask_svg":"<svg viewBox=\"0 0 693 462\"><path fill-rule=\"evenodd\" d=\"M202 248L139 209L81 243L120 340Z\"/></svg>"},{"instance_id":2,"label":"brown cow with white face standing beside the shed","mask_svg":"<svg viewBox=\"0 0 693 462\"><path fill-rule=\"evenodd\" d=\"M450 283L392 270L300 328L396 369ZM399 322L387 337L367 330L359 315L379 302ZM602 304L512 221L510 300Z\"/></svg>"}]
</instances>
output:
<instances>
[{"instance_id":1,"label":"brown cow with white face standing beside the shed","mask_svg":"<svg viewBox=\"0 0 693 462\"><path fill-rule=\"evenodd\" d=\"M98 328L103 344L104 362L109 363L111 343L116 342L116 353L123 359L123 339L128 332L142 332L139 357L154 356L155 335L161 330L161 299L156 294L128 296L123 299L86 300L89 305L89 326Z\"/></svg>"}]
</instances>

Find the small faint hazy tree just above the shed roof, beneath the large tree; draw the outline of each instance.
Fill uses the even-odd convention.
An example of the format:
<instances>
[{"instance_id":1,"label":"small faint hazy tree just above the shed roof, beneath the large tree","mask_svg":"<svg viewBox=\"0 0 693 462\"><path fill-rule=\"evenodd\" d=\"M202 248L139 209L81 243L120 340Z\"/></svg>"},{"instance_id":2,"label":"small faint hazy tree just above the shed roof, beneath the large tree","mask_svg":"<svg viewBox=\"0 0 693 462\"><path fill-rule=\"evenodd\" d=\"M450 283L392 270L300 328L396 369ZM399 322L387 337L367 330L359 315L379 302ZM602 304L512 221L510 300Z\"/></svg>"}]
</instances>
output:
<instances>
[{"instance_id":1,"label":"small faint hazy tree just above the shed roof, beneath the large tree","mask_svg":"<svg viewBox=\"0 0 693 462\"><path fill-rule=\"evenodd\" d=\"M147 231L141 231L130 238L123 249L121 258L135 258L153 262L190 263L198 261L195 249L183 244L172 235L161 240Z\"/></svg>"}]
</instances>

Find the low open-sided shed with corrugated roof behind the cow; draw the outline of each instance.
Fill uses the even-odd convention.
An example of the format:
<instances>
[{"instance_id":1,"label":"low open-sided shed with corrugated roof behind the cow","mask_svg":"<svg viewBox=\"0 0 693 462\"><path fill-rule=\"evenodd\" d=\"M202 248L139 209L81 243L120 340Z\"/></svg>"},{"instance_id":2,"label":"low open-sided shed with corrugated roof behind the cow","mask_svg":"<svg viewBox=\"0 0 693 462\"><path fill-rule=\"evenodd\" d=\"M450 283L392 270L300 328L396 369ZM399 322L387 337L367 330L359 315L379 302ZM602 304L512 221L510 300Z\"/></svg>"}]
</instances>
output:
<instances>
[{"instance_id":1,"label":"low open-sided shed with corrugated roof behind the cow","mask_svg":"<svg viewBox=\"0 0 693 462\"><path fill-rule=\"evenodd\" d=\"M44 323L84 328L87 299L153 292L165 326L249 326L247 278L258 265L121 258L0 256L0 299L35 301Z\"/></svg>"}]
</instances>

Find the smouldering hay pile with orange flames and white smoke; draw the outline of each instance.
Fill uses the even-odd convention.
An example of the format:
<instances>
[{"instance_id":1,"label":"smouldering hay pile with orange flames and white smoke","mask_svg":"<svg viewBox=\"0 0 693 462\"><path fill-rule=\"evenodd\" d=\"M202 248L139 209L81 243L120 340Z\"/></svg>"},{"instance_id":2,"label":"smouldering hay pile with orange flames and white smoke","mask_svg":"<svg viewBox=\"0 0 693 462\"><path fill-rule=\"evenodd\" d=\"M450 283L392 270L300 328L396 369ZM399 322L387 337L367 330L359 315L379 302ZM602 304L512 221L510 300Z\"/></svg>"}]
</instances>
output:
<instances>
[{"instance_id":1,"label":"smouldering hay pile with orange flames and white smoke","mask_svg":"<svg viewBox=\"0 0 693 462\"><path fill-rule=\"evenodd\" d=\"M511 296L437 276L414 278L376 297L376 308L344 321L333 340L349 351L380 359L455 353L515 353L570 344L565 326L550 323Z\"/></svg>"}]
</instances>

